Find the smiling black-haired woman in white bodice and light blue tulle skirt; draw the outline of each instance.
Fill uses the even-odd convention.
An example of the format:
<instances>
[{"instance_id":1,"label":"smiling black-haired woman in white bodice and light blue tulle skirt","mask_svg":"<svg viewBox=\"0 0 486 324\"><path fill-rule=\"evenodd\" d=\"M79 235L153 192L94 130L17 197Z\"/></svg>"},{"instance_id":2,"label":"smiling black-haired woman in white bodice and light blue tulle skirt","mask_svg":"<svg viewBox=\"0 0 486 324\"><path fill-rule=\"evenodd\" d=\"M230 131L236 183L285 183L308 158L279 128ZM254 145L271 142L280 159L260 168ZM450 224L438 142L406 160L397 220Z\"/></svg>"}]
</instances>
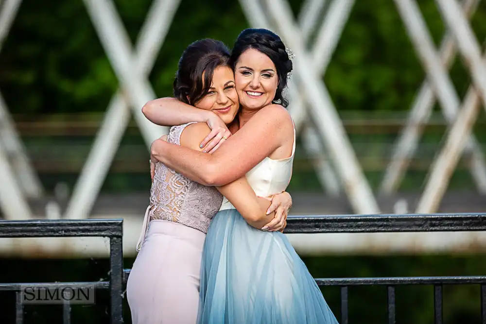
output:
<instances>
[{"instance_id":1,"label":"smiling black-haired woman in white bodice and light blue tulle skirt","mask_svg":"<svg viewBox=\"0 0 486 324\"><path fill-rule=\"evenodd\" d=\"M234 45L230 64L240 99L239 130L212 154L162 140L152 144L152 154L207 186L225 186L246 175L257 195L277 194L290 182L295 154L294 123L282 96L292 61L278 35L247 29ZM197 114L182 102L158 99L149 104L157 107L154 122L170 122L175 112ZM209 226L198 323L336 324L286 236L249 226L239 212L242 205L225 199Z\"/></svg>"}]
</instances>

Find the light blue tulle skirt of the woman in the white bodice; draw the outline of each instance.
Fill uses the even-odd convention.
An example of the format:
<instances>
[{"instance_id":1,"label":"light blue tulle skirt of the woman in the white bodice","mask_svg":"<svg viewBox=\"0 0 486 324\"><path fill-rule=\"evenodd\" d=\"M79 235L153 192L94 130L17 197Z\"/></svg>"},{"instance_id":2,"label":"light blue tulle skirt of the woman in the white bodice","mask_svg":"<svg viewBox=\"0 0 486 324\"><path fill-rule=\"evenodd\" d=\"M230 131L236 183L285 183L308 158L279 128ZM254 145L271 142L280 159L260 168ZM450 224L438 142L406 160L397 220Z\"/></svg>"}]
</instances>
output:
<instances>
[{"instance_id":1,"label":"light blue tulle skirt of the woman in the white bodice","mask_svg":"<svg viewBox=\"0 0 486 324\"><path fill-rule=\"evenodd\" d=\"M236 209L209 226L199 324L337 324L285 235L248 225Z\"/></svg>"}]
</instances>

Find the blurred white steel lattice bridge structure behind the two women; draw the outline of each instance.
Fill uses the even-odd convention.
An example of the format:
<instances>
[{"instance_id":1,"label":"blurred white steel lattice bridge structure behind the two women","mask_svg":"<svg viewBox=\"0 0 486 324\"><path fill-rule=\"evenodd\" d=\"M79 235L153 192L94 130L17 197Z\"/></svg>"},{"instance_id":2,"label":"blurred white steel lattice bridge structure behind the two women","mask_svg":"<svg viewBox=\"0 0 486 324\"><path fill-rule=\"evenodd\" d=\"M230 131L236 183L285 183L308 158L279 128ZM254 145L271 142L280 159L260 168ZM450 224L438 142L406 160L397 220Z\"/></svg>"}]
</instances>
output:
<instances>
[{"instance_id":1,"label":"blurred white steel lattice bridge structure behind the two women","mask_svg":"<svg viewBox=\"0 0 486 324\"><path fill-rule=\"evenodd\" d=\"M113 157L133 114L147 148L168 129L144 118L141 107L156 95L148 81L158 51L171 26L181 0L154 0L142 26L138 40L132 45L112 0L83 0L121 88L113 94L106 108L104 121L79 175L67 208L62 212L50 205L53 212L36 215L29 205L30 198L44 194L41 182L32 167L17 133L8 107L0 95L0 208L8 220L29 220L39 217L85 219L93 215L92 208L100 193ZM417 89L409 110L406 126L397 139L391 163L385 171L380 194L396 193L416 152L424 126L431 116L435 101L449 127L440 153L430 167L430 174L415 210L417 213L437 212L448 187L451 174L462 154L470 155L469 169L477 191L486 195L486 162L478 140L471 128L481 106L486 107L486 64L478 41L469 25L480 0L435 0L447 26L439 49L434 42L416 0L394 0L403 27L410 36L426 78ZM20 8L21 0L0 1L0 50L3 40ZM294 72L288 88L289 110L302 136L306 152L313 158L323 195L337 197L344 193L356 214L382 212L375 193L332 102L323 75L339 42L355 0L306 0L297 19L286 0L240 0L249 25L276 31L295 52ZM370 6L370 10L373 10ZM324 18L322 18L324 17ZM210 22L208 22L210 23ZM312 38L311 35L316 36ZM448 68L456 54L464 61L472 84L465 98L459 98ZM148 155L147 155L148 156ZM328 158L324 158L327 156ZM148 195L148 193L147 193ZM486 198L485 198L486 199ZM57 212L56 212L57 210ZM143 210L134 215L121 215L125 220L124 248L133 255L143 218ZM10 240L0 245L2 254L25 254L40 251L48 255L105 255L107 243L99 239ZM321 251L407 251L460 249L471 242L486 243L479 234L396 234L379 235L313 235L291 236L297 250ZM5 240L6 241L6 240ZM102 243L100 243L102 242ZM67 244L70 243L70 244ZM89 243L89 244L88 244Z\"/></svg>"}]
</instances>

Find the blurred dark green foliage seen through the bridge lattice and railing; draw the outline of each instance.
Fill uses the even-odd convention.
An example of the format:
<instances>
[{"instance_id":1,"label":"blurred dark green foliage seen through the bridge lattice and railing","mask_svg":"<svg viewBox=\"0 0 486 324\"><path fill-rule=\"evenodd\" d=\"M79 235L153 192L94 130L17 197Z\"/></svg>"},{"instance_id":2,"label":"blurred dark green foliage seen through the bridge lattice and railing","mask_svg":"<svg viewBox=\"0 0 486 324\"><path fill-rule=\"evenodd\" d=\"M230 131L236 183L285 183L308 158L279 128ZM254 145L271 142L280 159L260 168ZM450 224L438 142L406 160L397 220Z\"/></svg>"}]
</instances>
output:
<instances>
[{"instance_id":1,"label":"blurred dark green foliage seen through the bridge lattice and railing","mask_svg":"<svg viewBox=\"0 0 486 324\"><path fill-rule=\"evenodd\" d=\"M417 2L438 47L445 28L434 0ZM151 3L152 0L115 0L132 42L137 38ZM290 3L296 14L302 1L291 0ZM482 1L472 21L480 42L486 36L484 21L486 2ZM179 56L192 41L211 37L231 47L239 32L246 27L248 23L238 1L182 0L150 74L156 94L171 95ZM456 59L451 76L459 95L463 96L470 80L460 59ZM324 77L338 110L362 110L364 115L371 110L407 110L424 77L394 1L356 0ZM43 113L99 113L104 111L117 87L117 78L81 0L22 2L0 52L0 89L13 113L33 116ZM309 188L312 181L318 186L315 176L294 178L296 187L301 183L300 187ZM117 188L123 186L133 190L133 179L113 185ZM146 175L143 175L140 187L143 186L147 189L150 186ZM481 260L482 256L452 257L452 260L450 256L305 258L316 277L481 275L485 270ZM131 261L125 262L125 266L131 267ZM63 273L73 275L68 280L85 280L82 274L86 273L98 275L93 274L93 265L77 267L69 266L67 271L63 270ZM22 272L14 269L28 268L9 269L20 276ZM49 273L53 273L51 270L54 268L61 269L52 265L45 267L50 269ZM59 279L57 275L49 279L32 277L32 272L23 274L28 277L12 275L6 280ZM324 292L331 307L339 309L339 290L325 289ZM386 323L385 303L386 293L382 288L350 289L351 323ZM479 323L479 306L477 286L453 286L444 290L446 323ZM432 323L432 288L398 288L397 311L398 323ZM75 312L83 316L82 313L87 314L88 310L76 308ZM103 315L104 308L97 313ZM125 316L128 319L128 312Z\"/></svg>"}]
</instances>

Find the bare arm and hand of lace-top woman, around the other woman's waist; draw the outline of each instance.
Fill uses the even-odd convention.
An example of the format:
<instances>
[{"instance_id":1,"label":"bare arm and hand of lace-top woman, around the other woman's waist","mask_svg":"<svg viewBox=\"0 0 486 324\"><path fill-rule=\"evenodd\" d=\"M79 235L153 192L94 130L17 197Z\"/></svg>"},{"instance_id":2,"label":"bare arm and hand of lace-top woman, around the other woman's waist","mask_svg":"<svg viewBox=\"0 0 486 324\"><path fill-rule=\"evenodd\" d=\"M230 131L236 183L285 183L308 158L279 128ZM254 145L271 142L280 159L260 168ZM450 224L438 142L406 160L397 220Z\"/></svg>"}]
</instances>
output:
<instances>
[{"instance_id":1,"label":"bare arm and hand of lace-top woman, around the other woman's waist","mask_svg":"<svg viewBox=\"0 0 486 324\"><path fill-rule=\"evenodd\" d=\"M209 128L204 123L196 123L187 126L180 137L181 146L193 150L200 150L198 147L200 140L203 139L208 132ZM292 198L288 193L282 193L281 195L284 199L284 203L279 205L276 211L268 213L271 203L264 198L257 197L244 176L226 186L217 187L217 189L229 200L240 214L242 214L244 220L249 225L257 229L263 229L269 222L272 222L272 224L275 225L270 225L270 228L268 228L270 231L280 231L285 227L284 224L288 211L287 207L292 204ZM276 215L278 220L274 221Z\"/></svg>"}]
</instances>

